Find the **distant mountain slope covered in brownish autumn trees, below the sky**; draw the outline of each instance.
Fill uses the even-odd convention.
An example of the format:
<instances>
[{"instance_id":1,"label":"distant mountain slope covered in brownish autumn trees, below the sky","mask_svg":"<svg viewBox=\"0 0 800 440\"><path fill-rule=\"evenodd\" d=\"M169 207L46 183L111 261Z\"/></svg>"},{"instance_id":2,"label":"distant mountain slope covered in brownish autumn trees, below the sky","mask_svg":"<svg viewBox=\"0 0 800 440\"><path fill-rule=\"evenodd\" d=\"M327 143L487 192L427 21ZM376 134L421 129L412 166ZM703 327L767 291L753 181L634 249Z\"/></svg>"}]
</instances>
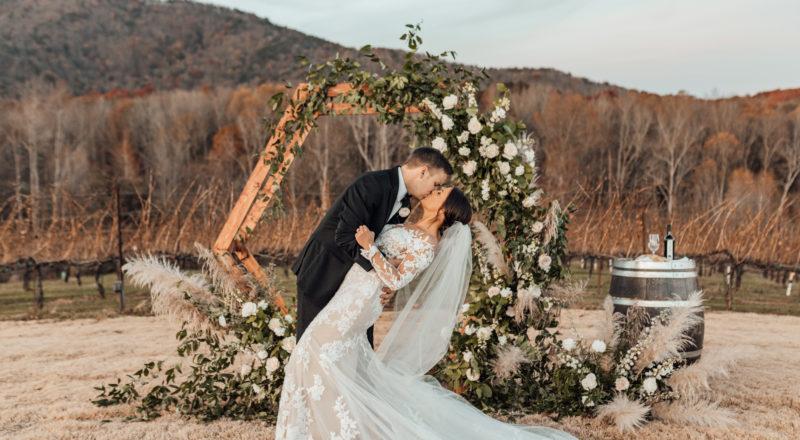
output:
<instances>
[{"instance_id":1,"label":"distant mountain slope covered in brownish autumn trees, below the sky","mask_svg":"<svg viewBox=\"0 0 800 440\"><path fill-rule=\"evenodd\" d=\"M399 32L400 30L398 30ZM356 50L235 9L190 1L0 0L0 96L34 77L75 94L191 89L302 78L312 62ZM387 64L403 52L382 49ZM618 87L555 69L489 69L492 78L594 94Z\"/></svg>"}]
</instances>

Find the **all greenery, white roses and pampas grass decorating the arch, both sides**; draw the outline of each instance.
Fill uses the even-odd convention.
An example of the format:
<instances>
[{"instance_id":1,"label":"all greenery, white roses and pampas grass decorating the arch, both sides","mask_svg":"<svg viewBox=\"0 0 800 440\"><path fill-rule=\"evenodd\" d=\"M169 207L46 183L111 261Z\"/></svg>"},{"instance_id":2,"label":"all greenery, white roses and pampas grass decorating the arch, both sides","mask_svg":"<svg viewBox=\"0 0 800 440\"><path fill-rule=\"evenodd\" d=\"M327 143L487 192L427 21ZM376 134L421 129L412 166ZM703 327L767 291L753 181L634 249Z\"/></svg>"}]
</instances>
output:
<instances>
[{"instance_id":1,"label":"all greenery, white roses and pampas grass decorating the arch, both sides","mask_svg":"<svg viewBox=\"0 0 800 440\"><path fill-rule=\"evenodd\" d=\"M419 26L408 25L401 37L409 51L396 70L386 68L369 46L360 52L380 74L349 58L308 64L306 94L289 103L295 119L280 126L278 154L265 160L273 173L285 173L283 156L290 148L300 152L291 140L311 130L331 104L348 103L374 110L383 123L404 125L413 134L412 147L431 145L454 165L455 180L478 213L477 239L469 302L447 356L432 374L476 406L511 416L531 411L597 415L621 430L653 417L730 423L727 410L698 399L733 359L704 354L686 366L679 354L689 343L686 331L698 323L699 293L689 307L652 319L636 306L627 316L615 315L608 299L595 338L561 337L560 311L583 286L566 281L569 209L547 202L536 183L536 138L509 117L511 100L502 84L497 99L481 111L482 76L445 62L452 52L419 53L418 31ZM350 91L330 98L329 89L341 83L349 83ZM274 96L273 108L283 100L282 94ZM277 129L277 123L270 128ZM204 273L192 277L152 258L126 265L134 282L151 287L154 310L171 310L195 323L191 334L187 328L178 333L179 354L193 355L188 378L177 383L181 370L170 368L163 383L140 398L136 385L163 368L149 363L125 384L118 380L98 387L96 404L139 400L145 417L175 406L204 419L274 419L282 365L294 346L293 320L272 307L269 298L280 294L274 286L265 289L245 280L244 294L236 287L242 280L227 279L207 251L201 249L201 256ZM201 346L209 353L199 353ZM238 370L235 362L241 364ZM704 409L700 415L698 407Z\"/></svg>"}]
</instances>

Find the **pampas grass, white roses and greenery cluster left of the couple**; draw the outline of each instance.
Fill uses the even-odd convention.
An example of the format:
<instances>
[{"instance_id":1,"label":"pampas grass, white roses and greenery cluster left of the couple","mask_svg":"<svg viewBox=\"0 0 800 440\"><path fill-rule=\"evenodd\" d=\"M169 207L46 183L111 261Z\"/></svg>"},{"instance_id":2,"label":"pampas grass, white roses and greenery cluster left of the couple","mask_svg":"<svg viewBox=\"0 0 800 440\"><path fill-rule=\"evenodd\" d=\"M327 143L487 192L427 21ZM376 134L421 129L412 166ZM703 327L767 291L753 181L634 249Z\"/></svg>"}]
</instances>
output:
<instances>
[{"instance_id":1,"label":"pampas grass, white roses and greenery cluster left of the couple","mask_svg":"<svg viewBox=\"0 0 800 440\"><path fill-rule=\"evenodd\" d=\"M203 269L195 275L150 255L123 266L133 283L150 288L155 314L183 320L177 353L191 371L184 374L181 363L166 368L163 361L148 362L125 382L95 387L100 394L92 402L135 404L142 420L175 410L201 420L274 421L283 365L296 343L294 317L269 301L282 294L276 286L233 278L208 249L196 247ZM145 385L150 389L141 395L137 388Z\"/></svg>"}]
</instances>

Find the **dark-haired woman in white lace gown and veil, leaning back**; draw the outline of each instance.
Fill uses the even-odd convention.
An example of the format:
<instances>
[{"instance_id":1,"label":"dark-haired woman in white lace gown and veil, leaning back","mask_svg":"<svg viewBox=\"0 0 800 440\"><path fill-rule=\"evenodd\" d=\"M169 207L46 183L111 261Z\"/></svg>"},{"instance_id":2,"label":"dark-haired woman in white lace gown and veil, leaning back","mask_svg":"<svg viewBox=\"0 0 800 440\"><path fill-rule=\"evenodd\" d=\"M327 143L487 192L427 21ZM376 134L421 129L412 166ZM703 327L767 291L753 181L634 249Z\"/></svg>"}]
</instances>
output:
<instances>
[{"instance_id":1,"label":"dark-haired woman in white lace gown and veil, leaning back","mask_svg":"<svg viewBox=\"0 0 800 440\"><path fill-rule=\"evenodd\" d=\"M472 210L457 188L420 201L414 224L356 241L374 270L354 264L286 364L276 440L574 439L546 427L503 423L426 373L446 354L472 270ZM397 318L373 351L366 331L397 290Z\"/></svg>"}]
</instances>

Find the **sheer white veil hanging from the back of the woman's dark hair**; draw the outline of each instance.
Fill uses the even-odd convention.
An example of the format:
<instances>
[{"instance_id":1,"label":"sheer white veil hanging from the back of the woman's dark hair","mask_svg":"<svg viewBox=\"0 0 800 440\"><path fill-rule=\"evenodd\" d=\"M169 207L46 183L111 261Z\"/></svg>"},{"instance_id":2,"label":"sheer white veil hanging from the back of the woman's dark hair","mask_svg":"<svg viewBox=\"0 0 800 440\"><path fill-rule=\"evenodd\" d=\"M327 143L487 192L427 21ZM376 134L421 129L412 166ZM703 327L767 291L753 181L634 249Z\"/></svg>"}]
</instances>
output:
<instances>
[{"instance_id":1,"label":"sheer white veil hanging from the back of the woman's dark hair","mask_svg":"<svg viewBox=\"0 0 800 440\"><path fill-rule=\"evenodd\" d=\"M377 355L398 373L427 373L447 353L472 273L472 233L460 222L447 228L433 262L395 293L394 319Z\"/></svg>"}]
</instances>

